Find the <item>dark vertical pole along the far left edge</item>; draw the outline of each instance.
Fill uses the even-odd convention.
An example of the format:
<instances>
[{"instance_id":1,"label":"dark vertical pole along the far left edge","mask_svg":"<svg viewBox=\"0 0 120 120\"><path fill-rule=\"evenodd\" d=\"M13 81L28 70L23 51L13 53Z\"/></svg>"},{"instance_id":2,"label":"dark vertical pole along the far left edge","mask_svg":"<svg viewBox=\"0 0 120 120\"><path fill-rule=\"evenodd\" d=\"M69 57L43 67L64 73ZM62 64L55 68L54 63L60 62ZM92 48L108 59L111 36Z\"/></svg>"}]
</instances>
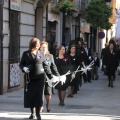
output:
<instances>
[{"instance_id":1,"label":"dark vertical pole along the far left edge","mask_svg":"<svg viewBox=\"0 0 120 120\"><path fill-rule=\"evenodd\" d=\"M0 0L0 95L3 94L3 4Z\"/></svg>"}]
</instances>

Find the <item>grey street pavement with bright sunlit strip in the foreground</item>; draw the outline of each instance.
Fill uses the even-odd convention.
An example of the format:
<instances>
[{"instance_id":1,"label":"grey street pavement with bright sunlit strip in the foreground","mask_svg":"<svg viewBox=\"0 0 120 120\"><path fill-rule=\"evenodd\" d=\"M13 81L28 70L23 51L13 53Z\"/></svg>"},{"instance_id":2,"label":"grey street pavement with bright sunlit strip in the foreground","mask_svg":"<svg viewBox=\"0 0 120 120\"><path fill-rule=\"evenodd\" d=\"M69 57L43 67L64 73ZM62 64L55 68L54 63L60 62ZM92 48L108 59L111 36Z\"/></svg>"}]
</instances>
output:
<instances>
[{"instance_id":1,"label":"grey street pavement with bright sunlit strip in the foreground","mask_svg":"<svg viewBox=\"0 0 120 120\"><path fill-rule=\"evenodd\" d=\"M51 99L51 111L42 120L120 120L120 75L114 87L108 87L107 76L99 70L99 80L83 83L78 94L66 97L65 106L58 105L57 91ZM30 110L23 107L23 89L0 96L0 120L28 119ZM44 103L45 104L45 103Z\"/></svg>"}]
</instances>

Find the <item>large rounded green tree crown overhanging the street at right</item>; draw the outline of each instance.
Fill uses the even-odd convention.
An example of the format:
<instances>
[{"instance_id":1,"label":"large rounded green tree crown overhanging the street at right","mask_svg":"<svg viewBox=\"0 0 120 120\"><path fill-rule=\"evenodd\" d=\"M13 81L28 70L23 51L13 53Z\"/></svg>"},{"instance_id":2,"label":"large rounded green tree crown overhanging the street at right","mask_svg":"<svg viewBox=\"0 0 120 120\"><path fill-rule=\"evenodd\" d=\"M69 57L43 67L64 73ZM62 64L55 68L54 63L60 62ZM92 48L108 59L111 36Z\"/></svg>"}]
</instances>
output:
<instances>
[{"instance_id":1,"label":"large rounded green tree crown overhanging the street at right","mask_svg":"<svg viewBox=\"0 0 120 120\"><path fill-rule=\"evenodd\" d=\"M112 9L106 5L104 0L92 0L86 9L86 21L94 28L108 29L112 26L109 18Z\"/></svg>"}]
</instances>

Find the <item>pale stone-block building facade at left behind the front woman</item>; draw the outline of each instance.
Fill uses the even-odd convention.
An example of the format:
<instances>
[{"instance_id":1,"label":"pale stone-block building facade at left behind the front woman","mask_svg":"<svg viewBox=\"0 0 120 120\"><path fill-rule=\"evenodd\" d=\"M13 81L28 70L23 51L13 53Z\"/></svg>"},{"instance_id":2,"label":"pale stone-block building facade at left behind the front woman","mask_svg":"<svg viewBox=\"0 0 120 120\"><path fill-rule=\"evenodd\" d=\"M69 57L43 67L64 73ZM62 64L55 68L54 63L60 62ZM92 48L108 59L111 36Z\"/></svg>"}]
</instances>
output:
<instances>
[{"instance_id":1,"label":"pale stone-block building facade at left behind the front woman","mask_svg":"<svg viewBox=\"0 0 120 120\"><path fill-rule=\"evenodd\" d=\"M0 5L0 23L3 19L0 39L2 33L4 36L3 45L0 47L0 54L3 54L0 94L23 87L23 74L19 69L20 58L23 51L29 48L32 37L46 40L46 11L49 2L50 0L4 0L4 4Z\"/></svg>"}]
</instances>

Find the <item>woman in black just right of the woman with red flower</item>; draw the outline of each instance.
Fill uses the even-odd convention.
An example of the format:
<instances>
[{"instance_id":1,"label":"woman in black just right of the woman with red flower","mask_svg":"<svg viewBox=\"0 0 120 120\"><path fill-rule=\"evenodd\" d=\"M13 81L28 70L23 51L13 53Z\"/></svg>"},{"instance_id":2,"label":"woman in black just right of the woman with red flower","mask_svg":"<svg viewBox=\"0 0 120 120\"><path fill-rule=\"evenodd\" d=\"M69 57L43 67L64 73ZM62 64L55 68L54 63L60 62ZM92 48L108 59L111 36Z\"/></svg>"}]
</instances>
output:
<instances>
[{"instance_id":1,"label":"woman in black just right of the woman with red flower","mask_svg":"<svg viewBox=\"0 0 120 120\"><path fill-rule=\"evenodd\" d=\"M76 54L76 46L75 45L71 45L69 48L69 58L70 58L70 62L71 62L71 66L70 66L70 71L74 72L76 71L76 69L78 68L78 66L80 65L81 61L80 61L80 56ZM78 76L79 73L76 73L75 78L69 83L69 86L71 86L71 91L68 95L68 97L73 97L74 93L77 93L77 89L79 88L79 78L80 76Z\"/></svg>"}]
</instances>

